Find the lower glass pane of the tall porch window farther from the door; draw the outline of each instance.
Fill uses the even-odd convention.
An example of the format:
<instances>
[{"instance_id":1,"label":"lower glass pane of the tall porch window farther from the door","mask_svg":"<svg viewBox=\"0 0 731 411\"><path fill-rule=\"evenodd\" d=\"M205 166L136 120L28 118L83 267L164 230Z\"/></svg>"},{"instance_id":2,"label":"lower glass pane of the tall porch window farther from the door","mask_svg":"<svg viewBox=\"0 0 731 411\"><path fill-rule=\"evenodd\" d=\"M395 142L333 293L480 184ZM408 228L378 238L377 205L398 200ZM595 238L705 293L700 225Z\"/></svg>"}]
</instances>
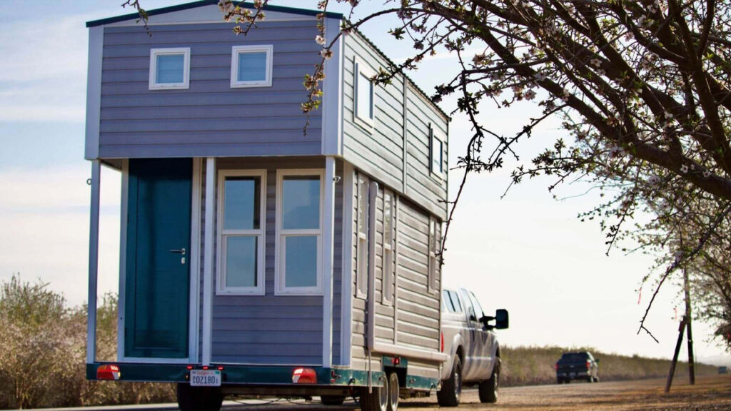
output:
<instances>
[{"instance_id":1,"label":"lower glass pane of the tall porch window farther from the door","mask_svg":"<svg viewBox=\"0 0 731 411\"><path fill-rule=\"evenodd\" d=\"M285 237L284 287L317 287L317 235Z\"/></svg>"}]
</instances>

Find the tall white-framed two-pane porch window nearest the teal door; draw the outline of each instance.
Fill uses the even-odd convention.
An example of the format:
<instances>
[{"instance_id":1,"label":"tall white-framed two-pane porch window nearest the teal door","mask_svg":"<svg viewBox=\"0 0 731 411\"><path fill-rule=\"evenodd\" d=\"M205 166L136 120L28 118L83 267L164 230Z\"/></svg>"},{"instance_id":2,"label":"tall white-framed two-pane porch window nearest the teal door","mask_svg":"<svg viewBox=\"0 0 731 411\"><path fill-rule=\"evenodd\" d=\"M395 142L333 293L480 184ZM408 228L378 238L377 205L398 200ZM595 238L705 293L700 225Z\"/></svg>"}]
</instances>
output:
<instances>
[{"instance_id":1,"label":"tall white-framed two-pane porch window nearest the teal door","mask_svg":"<svg viewBox=\"0 0 731 411\"><path fill-rule=\"evenodd\" d=\"M219 173L218 294L264 295L265 170Z\"/></svg>"}]
</instances>

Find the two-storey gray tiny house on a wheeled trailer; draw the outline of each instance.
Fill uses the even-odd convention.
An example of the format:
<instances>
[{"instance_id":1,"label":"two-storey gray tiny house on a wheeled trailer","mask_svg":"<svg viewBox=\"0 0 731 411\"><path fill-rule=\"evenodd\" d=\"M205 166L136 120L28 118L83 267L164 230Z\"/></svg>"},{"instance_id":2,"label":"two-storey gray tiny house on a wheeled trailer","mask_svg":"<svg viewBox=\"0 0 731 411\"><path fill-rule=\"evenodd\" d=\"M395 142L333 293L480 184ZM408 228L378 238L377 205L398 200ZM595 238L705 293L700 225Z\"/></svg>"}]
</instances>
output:
<instances>
[{"instance_id":1,"label":"two-storey gray tiny house on a wheeled trailer","mask_svg":"<svg viewBox=\"0 0 731 411\"><path fill-rule=\"evenodd\" d=\"M118 354L97 361L91 309L87 377L177 382L186 410L438 390L448 116L404 75L374 85L392 63L356 31L303 135L318 12L266 7L244 37L216 4L148 11L151 36L87 23L90 307L101 166L122 179Z\"/></svg>"}]
</instances>

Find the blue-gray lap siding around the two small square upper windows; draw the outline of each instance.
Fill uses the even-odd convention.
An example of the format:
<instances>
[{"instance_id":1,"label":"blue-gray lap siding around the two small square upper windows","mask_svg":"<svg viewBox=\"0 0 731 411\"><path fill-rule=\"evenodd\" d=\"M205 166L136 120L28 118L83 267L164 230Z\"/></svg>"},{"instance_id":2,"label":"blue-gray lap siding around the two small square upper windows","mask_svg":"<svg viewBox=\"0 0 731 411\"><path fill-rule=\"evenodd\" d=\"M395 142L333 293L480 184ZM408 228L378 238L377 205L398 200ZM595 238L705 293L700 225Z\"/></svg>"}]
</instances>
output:
<instances>
[{"instance_id":1,"label":"blue-gray lap siding around the two small square upper windows","mask_svg":"<svg viewBox=\"0 0 731 411\"><path fill-rule=\"evenodd\" d=\"M258 23L105 27L99 157L249 157L322 152L319 110L306 118L302 80L319 61L314 18ZM273 85L231 88L235 45L273 45ZM149 90L150 50L190 48L187 89Z\"/></svg>"}]
</instances>

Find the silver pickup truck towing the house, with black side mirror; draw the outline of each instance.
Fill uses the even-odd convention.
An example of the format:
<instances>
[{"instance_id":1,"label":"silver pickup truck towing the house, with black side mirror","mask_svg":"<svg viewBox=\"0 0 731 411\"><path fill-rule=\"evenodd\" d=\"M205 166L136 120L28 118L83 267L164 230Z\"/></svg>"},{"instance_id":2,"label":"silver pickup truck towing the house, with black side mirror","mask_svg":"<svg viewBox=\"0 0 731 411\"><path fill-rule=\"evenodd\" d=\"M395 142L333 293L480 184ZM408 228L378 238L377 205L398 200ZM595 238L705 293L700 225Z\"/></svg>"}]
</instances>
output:
<instances>
[{"instance_id":1,"label":"silver pickup truck towing the house, with black side mirror","mask_svg":"<svg viewBox=\"0 0 731 411\"><path fill-rule=\"evenodd\" d=\"M495 321L493 324L492 321ZM496 402L500 382L500 347L493 329L508 327L507 310L486 316L474 294L464 288L442 293L442 343L449 356L442 366L442 407L457 407L463 385L477 384L480 401Z\"/></svg>"}]
</instances>

